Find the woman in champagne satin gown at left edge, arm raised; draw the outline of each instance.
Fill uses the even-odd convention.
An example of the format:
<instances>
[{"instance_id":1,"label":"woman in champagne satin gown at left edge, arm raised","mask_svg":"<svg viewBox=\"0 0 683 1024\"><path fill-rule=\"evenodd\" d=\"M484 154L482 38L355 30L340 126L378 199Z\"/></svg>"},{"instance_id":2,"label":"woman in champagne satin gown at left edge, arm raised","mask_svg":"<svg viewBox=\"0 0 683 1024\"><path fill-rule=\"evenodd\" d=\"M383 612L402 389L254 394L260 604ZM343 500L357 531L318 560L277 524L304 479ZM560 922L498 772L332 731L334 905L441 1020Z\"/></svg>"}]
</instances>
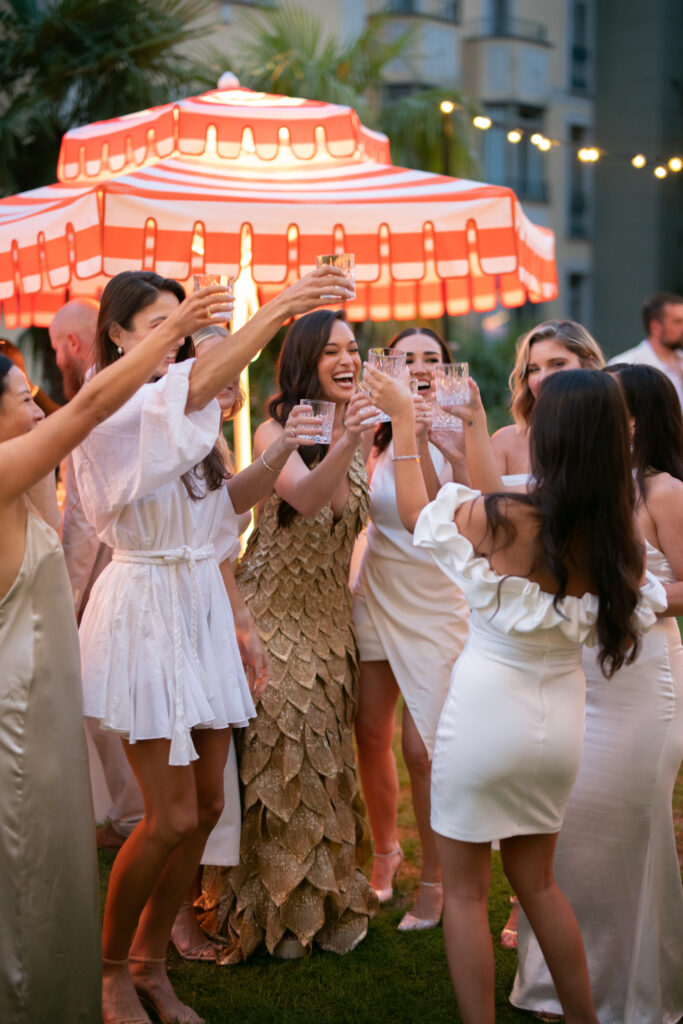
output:
<instances>
[{"instance_id":1,"label":"woman in champagne satin gown at left edge, arm raised","mask_svg":"<svg viewBox=\"0 0 683 1024\"><path fill-rule=\"evenodd\" d=\"M92 1024L101 965L94 822L71 587L57 535L26 495L175 346L227 310L216 289L49 419L0 355L0 1007L3 1020Z\"/></svg>"}]
</instances>

